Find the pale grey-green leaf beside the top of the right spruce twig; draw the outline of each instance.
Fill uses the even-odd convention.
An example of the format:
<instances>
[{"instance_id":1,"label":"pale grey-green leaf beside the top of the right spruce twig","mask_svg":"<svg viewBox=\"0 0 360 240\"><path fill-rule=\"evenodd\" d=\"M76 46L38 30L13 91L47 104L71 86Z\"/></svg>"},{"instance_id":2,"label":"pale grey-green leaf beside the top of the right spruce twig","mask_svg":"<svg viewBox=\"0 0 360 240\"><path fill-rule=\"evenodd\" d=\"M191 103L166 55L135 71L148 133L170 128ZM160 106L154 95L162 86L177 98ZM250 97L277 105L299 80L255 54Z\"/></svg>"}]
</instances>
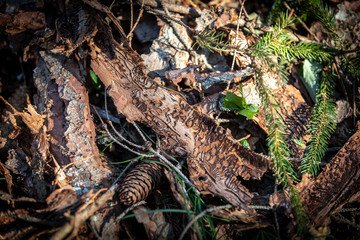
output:
<instances>
[{"instance_id":1,"label":"pale grey-green leaf beside the top of the right spruce twig","mask_svg":"<svg viewBox=\"0 0 360 240\"><path fill-rule=\"evenodd\" d=\"M305 59L299 71L299 76L314 102L316 99L316 91L319 88L319 73L321 70L322 66L319 63Z\"/></svg>"}]
</instances>

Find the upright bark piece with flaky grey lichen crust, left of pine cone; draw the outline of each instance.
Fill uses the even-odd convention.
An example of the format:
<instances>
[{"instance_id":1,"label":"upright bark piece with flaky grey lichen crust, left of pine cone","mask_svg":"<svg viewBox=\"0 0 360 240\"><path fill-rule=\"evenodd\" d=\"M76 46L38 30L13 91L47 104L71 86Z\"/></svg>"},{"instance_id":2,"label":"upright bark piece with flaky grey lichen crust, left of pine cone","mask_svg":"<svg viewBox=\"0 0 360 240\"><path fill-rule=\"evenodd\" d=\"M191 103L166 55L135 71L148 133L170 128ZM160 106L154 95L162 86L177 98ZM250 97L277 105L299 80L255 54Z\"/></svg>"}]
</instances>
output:
<instances>
[{"instance_id":1,"label":"upright bark piece with flaky grey lichen crust, left of pine cone","mask_svg":"<svg viewBox=\"0 0 360 240\"><path fill-rule=\"evenodd\" d=\"M47 116L50 151L80 192L103 186L111 172L104 166L95 144L95 126L90 117L86 88L64 68L71 62L59 55L40 52L34 78Z\"/></svg>"}]
</instances>

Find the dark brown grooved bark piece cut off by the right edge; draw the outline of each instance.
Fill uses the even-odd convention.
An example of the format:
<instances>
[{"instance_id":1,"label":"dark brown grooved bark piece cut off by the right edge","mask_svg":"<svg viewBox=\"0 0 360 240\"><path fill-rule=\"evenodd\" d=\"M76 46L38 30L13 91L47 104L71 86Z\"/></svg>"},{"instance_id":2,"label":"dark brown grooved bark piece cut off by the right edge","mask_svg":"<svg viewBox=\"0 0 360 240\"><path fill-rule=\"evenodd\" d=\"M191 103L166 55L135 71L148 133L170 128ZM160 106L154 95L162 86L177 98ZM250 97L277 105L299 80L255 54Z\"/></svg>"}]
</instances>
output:
<instances>
[{"instance_id":1,"label":"dark brown grooved bark piece cut off by the right edge","mask_svg":"<svg viewBox=\"0 0 360 240\"><path fill-rule=\"evenodd\" d=\"M360 193L360 130L315 179L299 183L302 201L311 225L326 225L330 216Z\"/></svg>"}]
</instances>

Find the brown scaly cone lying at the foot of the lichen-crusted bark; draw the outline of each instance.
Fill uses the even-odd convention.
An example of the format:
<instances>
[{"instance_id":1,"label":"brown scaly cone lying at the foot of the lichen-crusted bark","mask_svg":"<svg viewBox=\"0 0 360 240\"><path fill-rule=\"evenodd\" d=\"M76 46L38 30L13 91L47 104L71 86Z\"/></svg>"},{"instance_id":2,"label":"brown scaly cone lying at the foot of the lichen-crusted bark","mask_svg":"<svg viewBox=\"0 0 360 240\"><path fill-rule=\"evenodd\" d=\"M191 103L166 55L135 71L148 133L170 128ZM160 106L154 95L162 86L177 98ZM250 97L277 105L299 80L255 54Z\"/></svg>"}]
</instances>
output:
<instances>
[{"instance_id":1,"label":"brown scaly cone lying at the foot of the lichen-crusted bark","mask_svg":"<svg viewBox=\"0 0 360 240\"><path fill-rule=\"evenodd\" d=\"M163 169L155 162L141 162L122 180L119 198L125 206L145 200L150 192L159 185Z\"/></svg>"}]
</instances>

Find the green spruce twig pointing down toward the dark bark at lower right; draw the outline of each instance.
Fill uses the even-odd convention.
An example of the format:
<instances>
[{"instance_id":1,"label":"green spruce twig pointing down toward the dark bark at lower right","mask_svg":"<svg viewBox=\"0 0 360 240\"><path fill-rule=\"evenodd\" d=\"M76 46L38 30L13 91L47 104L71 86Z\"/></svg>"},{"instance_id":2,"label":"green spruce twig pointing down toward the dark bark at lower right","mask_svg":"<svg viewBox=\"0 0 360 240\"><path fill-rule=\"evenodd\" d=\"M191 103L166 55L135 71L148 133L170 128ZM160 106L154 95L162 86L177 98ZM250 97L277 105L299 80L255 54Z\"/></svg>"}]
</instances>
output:
<instances>
[{"instance_id":1,"label":"green spruce twig pointing down toward the dark bark at lower right","mask_svg":"<svg viewBox=\"0 0 360 240\"><path fill-rule=\"evenodd\" d=\"M307 152L301 163L302 173L315 176L319 170L321 159L325 155L328 141L336 127L335 102L333 100L334 73L331 69L323 72L320 89L316 96L316 104L312 111L308 131Z\"/></svg>"}]
</instances>

